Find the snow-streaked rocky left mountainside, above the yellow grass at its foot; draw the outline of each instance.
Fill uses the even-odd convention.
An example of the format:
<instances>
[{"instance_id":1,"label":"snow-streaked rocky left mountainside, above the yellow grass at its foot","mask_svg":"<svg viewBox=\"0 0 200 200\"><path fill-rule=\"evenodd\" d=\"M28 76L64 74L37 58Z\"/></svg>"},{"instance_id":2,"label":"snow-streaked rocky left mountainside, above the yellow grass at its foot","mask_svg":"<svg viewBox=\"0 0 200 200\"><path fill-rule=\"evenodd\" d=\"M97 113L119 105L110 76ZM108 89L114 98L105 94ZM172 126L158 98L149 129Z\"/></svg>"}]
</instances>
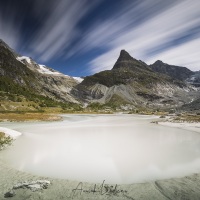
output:
<instances>
[{"instance_id":1,"label":"snow-streaked rocky left mountainside, above the yellow grass at its foot","mask_svg":"<svg viewBox=\"0 0 200 200\"><path fill-rule=\"evenodd\" d=\"M54 101L79 103L70 94L70 90L79 82L73 77L39 65L29 57L15 53L0 40L1 102L26 99L40 104L43 102L44 105L44 102L53 104Z\"/></svg>"}]
</instances>

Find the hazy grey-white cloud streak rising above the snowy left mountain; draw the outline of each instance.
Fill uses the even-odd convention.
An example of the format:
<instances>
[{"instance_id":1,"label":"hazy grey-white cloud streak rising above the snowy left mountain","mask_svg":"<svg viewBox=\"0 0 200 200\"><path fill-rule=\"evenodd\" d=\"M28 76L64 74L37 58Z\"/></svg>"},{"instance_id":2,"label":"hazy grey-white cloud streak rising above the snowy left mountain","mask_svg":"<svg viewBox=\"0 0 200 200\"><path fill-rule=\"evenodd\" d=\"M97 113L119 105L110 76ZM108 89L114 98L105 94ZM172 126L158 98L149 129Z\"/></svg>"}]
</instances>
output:
<instances>
[{"instance_id":1,"label":"hazy grey-white cloud streak rising above the snowy left mountain","mask_svg":"<svg viewBox=\"0 0 200 200\"><path fill-rule=\"evenodd\" d=\"M99 1L88 4L87 0L60 0L52 9L44 27L32 42L32 48L42 61L62 54L78 30L77 23Z\"/></svg>"}]
</instances>

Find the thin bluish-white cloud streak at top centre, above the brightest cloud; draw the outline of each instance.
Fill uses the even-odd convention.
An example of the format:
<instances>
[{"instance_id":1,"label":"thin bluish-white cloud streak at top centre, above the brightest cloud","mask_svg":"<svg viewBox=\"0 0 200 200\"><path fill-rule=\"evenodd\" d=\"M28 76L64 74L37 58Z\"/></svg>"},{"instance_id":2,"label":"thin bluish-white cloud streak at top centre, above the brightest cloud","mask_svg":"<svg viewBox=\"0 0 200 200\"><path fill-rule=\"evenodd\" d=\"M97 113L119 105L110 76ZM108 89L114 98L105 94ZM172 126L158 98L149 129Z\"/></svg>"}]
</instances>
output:
<instances>
[{"instance_id":1,"label":"thin bluish-white cloud streak at top centre, above the brightest cloud","mask_svg":"<svg viewBox=\"0 0 200 200\"><path fill-rule=\"evenodd\" d=\"M116 12L117 14L112 15L110 18L95 21L95 24L87 30L85 35L83 35L82 41L71 50L70 54L73 55L78 51L84 53L95 47L111 47L113 40L116 41L123 34L135 29L138 20L141 20L144 16L148 19L147 16L153 17L160 13L166 4L161 2L161 0L156 2L153 0L143 2L132 1L132 3L129 2L127 7L122 7L120 11ZM171 5L168 4L167 7ZM147 7L149 9L146 9Z\"/></svg>"}]
</instances>

